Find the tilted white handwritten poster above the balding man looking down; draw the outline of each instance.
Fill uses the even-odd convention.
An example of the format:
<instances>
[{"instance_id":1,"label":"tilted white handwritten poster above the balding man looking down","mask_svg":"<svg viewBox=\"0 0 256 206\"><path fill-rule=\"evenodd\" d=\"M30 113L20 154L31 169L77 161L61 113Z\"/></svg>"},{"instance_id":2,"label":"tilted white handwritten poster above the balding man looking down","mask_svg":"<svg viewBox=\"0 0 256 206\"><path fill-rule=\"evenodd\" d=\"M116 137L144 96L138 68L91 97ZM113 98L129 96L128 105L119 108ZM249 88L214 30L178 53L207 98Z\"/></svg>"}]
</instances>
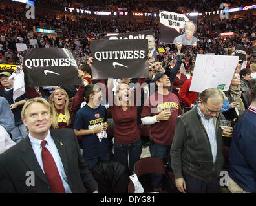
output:
<instances>
[{"instance_id":1,"label":"tilted white handwritten poster above the balding man looking down","mask_svg":"<svg viewBox=\"0 0 256 206\"><path fill-rule=\"evenodd\" d=\"M239 57L198 54L189 91L208 88L228 91Z\"/></svg>"}]
</instances>

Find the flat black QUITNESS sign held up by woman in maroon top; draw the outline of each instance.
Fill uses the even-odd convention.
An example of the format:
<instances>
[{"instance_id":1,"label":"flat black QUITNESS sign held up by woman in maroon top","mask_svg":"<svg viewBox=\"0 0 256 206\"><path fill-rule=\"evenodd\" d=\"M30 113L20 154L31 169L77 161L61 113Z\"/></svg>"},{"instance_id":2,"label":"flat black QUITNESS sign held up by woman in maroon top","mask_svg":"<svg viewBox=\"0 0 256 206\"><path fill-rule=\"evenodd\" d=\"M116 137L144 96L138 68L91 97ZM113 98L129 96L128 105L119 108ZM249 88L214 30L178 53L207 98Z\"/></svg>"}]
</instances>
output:
<instances>
[{"instance_id":1,"label":"flat black QUITNESS sign held up by woman in maroon top","mask_svg":"<svg viewBox=\"0 0 256 206\"><path fill-rule=\"evenodd\" d=\"M147 40L91 41L92 79L148 76Z\"/></svg>"}]
</instances>

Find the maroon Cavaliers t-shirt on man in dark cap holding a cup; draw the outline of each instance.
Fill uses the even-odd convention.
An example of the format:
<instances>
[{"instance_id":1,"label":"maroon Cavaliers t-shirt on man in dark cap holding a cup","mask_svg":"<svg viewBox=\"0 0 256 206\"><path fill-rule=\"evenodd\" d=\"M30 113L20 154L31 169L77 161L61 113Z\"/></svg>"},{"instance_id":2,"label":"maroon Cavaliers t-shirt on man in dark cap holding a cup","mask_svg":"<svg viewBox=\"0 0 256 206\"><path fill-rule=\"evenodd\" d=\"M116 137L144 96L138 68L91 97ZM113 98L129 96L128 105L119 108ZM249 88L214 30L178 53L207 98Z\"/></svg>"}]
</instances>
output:
<instances>
[{"instance_id":1,"label":"maroon Cavaliers t-shirt on man in dark cap holding a cup","mask_svg":"<svg viewBox=\"0 0 256 206\"><path fill-rule=\"evenodd\" d=\"M161 95L156 91L145 100L141 118L158 115L164 108L170 108L171 117L169 120L152 124L149 128L149 135L156 144L171 145L175 133L176 118L182 114L180 101L175 94L169 92L168 95Z\"/></svg>"}]
</instances>

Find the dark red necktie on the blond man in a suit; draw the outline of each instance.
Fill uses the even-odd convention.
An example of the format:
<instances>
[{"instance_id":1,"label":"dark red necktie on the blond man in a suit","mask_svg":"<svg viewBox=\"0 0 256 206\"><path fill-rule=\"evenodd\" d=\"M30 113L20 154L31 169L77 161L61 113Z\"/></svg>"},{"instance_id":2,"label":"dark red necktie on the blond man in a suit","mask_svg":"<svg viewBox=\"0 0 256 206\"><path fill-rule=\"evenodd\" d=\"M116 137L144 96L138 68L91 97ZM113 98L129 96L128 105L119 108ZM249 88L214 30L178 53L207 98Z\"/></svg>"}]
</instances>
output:
<instances>
[{"instance_id":1,"label":"dark red necktie on the blond man in a suit","mask_svg":"<svg viewBox=\"0 0 256 206\"><path fill-rule=\"evenodd\" d=\"M48 182L50 183L50 189L53 193L65 193L61 177L59 176L58 168L54 162L54 158L47 147L45 147L47 141L43 140L41 142L42 147L42 160L43 160L43 169L45 171L45 176L47 177Z\"/></svg>"}]
</instances>

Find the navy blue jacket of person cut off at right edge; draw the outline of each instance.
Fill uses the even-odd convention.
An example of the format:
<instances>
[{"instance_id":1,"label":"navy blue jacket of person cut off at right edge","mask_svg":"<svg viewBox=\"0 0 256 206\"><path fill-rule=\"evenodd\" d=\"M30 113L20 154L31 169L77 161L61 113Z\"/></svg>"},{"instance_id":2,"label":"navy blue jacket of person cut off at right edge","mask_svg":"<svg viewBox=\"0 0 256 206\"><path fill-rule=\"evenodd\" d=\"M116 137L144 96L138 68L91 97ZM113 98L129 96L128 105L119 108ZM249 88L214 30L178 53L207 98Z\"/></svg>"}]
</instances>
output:
<instances>
[{"instance_id":1,"label":"navy blue jacket of person cut off at right edge","mask_svg":"<svg viewBox=\"0 0 256 206\"><path fill-rule=\"evenodd\" d=\"M246 192L256 192L256 109L249 106L233 131L228 174Z\"/></svg>"}]
</instances>

